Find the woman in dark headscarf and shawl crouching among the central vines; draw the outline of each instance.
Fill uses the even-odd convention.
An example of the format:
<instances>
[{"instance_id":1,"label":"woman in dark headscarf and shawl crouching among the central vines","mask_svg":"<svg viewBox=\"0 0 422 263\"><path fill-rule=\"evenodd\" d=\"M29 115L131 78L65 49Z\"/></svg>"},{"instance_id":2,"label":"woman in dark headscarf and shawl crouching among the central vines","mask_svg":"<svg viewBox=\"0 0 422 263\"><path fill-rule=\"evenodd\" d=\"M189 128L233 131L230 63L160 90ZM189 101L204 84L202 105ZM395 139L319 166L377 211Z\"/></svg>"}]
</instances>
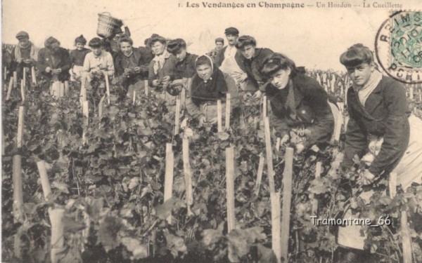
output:
<instances>
[{"instance_id":1,"label":"woman in dark headscarf and shawl crouching among the central vines","mask_svg":"<svg viewBox=\"0 0 422 263\"><path fill-rule=\"evenodd\" d=\"M238 90L234 79L224 74L207 55L196 58L196 74L192 77L191 90L186 98L188 114L203 123L217 122L217 100L222 100L222 116L225 114L226 93L236 101ZM235 103L231 103L231 107Z\"/></svg>"}]
</instances>

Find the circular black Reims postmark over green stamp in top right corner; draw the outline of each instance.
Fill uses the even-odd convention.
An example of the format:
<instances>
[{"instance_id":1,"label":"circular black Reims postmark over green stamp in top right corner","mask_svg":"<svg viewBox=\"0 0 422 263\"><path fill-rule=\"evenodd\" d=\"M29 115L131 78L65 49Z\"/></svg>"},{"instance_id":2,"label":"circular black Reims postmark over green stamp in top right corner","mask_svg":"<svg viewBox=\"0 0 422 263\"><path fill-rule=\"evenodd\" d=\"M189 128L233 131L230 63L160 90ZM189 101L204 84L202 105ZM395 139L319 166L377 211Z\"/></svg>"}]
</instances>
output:
<instances>
[{"instance_id":1,"label":"circular black Reims postmark over green stamp in top right corner","mask_svg":"<svg viewBox=\"0 0 422 263\"><path fill-rule=\"evenodd\" d=\"M375 53L379 65L393 79L422 83L422 12L393 12L378 29Z\"/></svg>"}]
</instances>

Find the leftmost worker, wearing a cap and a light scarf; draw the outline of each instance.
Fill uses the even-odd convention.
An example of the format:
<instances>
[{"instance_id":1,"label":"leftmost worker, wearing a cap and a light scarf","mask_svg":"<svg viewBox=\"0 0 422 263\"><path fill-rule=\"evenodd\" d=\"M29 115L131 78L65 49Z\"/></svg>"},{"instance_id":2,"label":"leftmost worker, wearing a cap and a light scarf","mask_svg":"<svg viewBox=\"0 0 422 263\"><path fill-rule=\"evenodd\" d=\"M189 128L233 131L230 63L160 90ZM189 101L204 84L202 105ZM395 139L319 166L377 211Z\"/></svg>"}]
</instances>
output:
<instances>
[{"instance_id":1,"label":"leftmost worker, wearing a cap and a light scarf","mask_svg":"<svg viewBox=\"0 0 422 263\"><path fill-rule=\"evenodd\" d=\"M13 67L15 68L18 78L23 77L23 69L30 73L32 66L37 64L39 49L30 41L30 35L21 31L16 34L19 43L12 50ZM30 74L26 74L30 76Z\"/></svg>"}]
</instances>

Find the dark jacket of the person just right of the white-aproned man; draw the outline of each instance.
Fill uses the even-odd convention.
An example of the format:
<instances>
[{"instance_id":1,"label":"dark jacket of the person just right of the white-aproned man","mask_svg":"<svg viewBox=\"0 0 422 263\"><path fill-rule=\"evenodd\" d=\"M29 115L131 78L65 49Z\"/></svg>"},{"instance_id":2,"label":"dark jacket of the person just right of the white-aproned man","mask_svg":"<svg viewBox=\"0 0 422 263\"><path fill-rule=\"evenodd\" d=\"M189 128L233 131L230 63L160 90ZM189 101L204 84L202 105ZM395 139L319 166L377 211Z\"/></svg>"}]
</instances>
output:
<instances>
[{"instance_id":1,"label":"dark jacket of the person just right of the white-aproned man","mask_svg":"<svg viewBox=\"0 0 422 263\"><path fill-rule=\"evenodd\" d=\"M274 52L269 48L255 48L255 55L251 60L247 60L243 57L243 67L245 68L246 74L248 74L248 79L257 87L259 82L264 82L260 73L260 67L264 60L272 53Z\"/></svg>"}]
</instances>

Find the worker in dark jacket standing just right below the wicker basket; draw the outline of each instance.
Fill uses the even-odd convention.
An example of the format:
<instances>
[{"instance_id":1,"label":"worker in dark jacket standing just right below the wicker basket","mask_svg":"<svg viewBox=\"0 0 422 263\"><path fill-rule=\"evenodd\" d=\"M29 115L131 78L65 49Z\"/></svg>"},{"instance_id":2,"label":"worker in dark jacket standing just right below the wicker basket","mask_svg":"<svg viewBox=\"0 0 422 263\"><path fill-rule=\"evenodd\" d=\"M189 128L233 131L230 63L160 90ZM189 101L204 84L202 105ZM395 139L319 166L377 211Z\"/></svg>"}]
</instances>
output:
<instances>
[{"instance_id":1,"label":"worker in dark jacket standing just right below the wicker basket","mask_svg":"<svg viewBox=\"0 0 422 263\"><path fill-rule=\"evenodd\" d=\"M122 85L127 88L127 95L132 96L134 90L140 93L144 88L143 81L148 79L148 65L153 59L150 50L144 47L132 47L133 41L128 36L119 40L120 51L114 59L115 74Z\"/></svg>"}]
</instances>

